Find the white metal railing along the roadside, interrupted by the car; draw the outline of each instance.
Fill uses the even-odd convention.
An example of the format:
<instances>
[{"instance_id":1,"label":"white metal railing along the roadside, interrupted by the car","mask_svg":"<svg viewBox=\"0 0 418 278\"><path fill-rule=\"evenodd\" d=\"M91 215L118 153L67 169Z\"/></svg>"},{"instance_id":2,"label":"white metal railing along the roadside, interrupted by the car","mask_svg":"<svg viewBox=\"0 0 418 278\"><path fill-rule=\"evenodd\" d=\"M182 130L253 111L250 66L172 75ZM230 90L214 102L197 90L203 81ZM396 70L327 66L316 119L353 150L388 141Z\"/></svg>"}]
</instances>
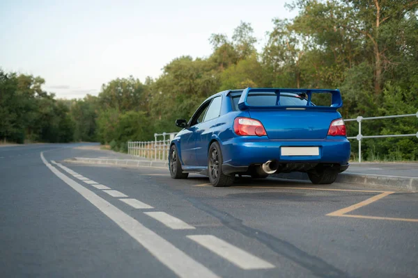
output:
<instances>
[{"instance_id":1,"label":"white metal railing along the roadside, interrupted by the car","mask_svg":"<svg viewBox=\"0 0 418 278\"><path fill-rule=\"evenodd\" d=\"M391 115L391 116L381 116L381 117L362 117L359 116L355 119L346 119L344 122L354 122L357 121L359 124L359 133L357 136L347 137L348 139L357 139L359 142L359 162L362 162L362 140L366 138L389 138L389 137L411 137L416 136L418 138L418 132L415 134L391 134L391 135L373 135L373 136L364 136L362 135L362 122L365 120L380 120L380 119L389 119L394 117L417 117L416 114L405 114L405 115ZM148 142L127 142L127 153L132 156L140 156L144 158L150 158L157 160L165 161L168 158L169 146L171 140L176 136L176 132L171 133L155 133L154 141ZM166 138L168 136L168 138ZM162 140L157 140L161 138Z\"/></svg>"}]
</instances>

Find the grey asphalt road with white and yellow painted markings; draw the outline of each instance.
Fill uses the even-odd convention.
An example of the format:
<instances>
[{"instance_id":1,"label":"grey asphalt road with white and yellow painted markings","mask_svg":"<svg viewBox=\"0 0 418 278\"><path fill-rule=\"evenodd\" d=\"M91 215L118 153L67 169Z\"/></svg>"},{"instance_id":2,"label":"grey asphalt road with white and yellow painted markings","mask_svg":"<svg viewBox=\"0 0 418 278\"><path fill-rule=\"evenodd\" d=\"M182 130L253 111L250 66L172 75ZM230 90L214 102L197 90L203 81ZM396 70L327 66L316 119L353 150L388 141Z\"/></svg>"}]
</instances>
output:
<instances>
[{"instance_id":1,"label":"grey asphalt road with white and yellow painted markings","mask_svg":"<svg viewBox=\"0 0 418 278\"><path fill-rule=\"evenodd\" d=\"M72 147L0 148L1 277L418 275L418 193L244 178L212 188L167 169L63 163L113 155Z\"/></svg>"}]
</instances>

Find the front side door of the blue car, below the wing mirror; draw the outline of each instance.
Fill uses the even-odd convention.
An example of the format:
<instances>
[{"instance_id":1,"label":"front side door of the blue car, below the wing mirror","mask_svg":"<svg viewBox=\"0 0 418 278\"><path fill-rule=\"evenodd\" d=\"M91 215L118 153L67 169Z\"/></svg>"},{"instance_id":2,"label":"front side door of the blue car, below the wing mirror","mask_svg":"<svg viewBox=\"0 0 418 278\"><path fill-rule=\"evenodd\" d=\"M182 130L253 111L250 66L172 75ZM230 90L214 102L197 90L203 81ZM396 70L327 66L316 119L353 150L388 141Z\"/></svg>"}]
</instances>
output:
<instances>
[{"instance_id":1,"label":"front side door of the blue car, below the wing mirror","mask_svg":"<svg viewBox=\"0 0 418 278\"><path fill-rule=\"evenodd\" d=\"M199 123L203 122L206 111L210 101L204 102L192 116L188 126L182 131L183 134L180 136L180 154L183 165L196 166L196 131L198 131Z\"/></svg>"}]
</instances>

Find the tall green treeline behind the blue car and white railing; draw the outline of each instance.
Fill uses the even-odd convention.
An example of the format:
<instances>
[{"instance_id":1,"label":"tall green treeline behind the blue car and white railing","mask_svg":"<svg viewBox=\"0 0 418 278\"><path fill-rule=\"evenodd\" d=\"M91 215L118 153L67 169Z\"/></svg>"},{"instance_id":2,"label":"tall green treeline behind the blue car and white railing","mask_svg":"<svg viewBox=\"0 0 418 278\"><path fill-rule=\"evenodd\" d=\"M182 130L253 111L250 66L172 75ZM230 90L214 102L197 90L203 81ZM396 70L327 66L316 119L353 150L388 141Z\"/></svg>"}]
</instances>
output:
<instances>
[{"instance_id":1,"label":"tall green treeline behind the blue car and white railing","mask_svg":"<svg viewBox=\"0 0 418 278\"><path fill-rule=\"evenodd\" d=\"M157 79L115 79L102 85L98 97L72 101L66 114L71 140L113 141L125 149L127 140L178 131L176 118L189 118L203 99L229 88L339 88L344 118L417 113L418 1L298 0L288 8L299 14L273 19L261 51L251 25L242 22L231 38L210 36L208 57L182 56ZM362 126L363 135L417 131L415 117ZM0 138L8 136L0 132ZM357 135L356 122L348 122L348 133ZM417 143L412 137L366 139L362 149L369 160L417 160Z\"/></svg>"}]
</instances>

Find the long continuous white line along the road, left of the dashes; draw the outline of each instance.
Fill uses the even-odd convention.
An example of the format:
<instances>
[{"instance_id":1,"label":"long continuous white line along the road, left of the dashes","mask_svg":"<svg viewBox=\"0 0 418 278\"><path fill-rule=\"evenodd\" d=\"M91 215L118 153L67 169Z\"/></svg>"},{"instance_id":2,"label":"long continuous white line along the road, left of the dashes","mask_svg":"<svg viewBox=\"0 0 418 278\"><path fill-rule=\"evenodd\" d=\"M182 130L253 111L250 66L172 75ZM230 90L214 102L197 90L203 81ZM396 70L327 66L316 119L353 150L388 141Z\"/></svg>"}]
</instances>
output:
<instances>
[{"instance_id":1,"label":"long continuous white line along the road, left of the dashes","mask_svg":"<svg viewBox=\"0 0 418 278\"><path fill-rule=\"evenodd\" d=\"M215 273L208 270L205 266L201 265L197 261L194 261L191 257L187 256L183 251L178 250L177 247L169 243L167 240L155 234L154 231L144 227L140 222L130 217L116 206L110 204L105 199L95 195L93 191L88 190L81 184L73 181L65 174L59 172L54 166L49 164L42 152L40 153L40 158L43 163L49 167L57 177L63 180L68 186L71 186L72 189L76 190L80 195L82 195L88 202L91 202L95 207L97 207L102 213L107 215L111 220L113 220L119 227L127 232L132 238L137 240L139 244L144 246L155 258L167 265L173 272L176 273L179 277L209 277L209 278L218 278Z\"/></svg>"}]
</instances>

